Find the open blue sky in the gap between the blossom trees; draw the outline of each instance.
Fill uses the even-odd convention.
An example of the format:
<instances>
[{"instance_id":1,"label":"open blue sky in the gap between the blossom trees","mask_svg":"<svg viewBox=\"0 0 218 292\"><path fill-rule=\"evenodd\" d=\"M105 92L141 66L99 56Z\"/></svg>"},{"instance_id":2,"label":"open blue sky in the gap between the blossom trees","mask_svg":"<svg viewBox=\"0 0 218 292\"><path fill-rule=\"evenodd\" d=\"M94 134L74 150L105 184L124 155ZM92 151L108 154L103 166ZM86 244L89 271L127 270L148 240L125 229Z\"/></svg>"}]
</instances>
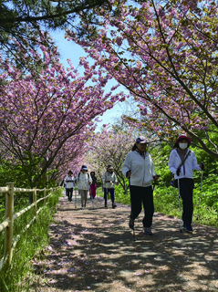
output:
<instances>
[{"instance_id":1,"label":"open blue sky in the gap between the blossom trees","mask_svg":"<svg viewBox=\"0 0 218 292\"><path fill-rule=\"evenodd\" d=\"M67 68L67 58L71 59L72 64L75 68L78 69L79 72L79 57L83 57L86 55L84 50L79 47L77 44L72 41L67 41L64 37L65 33L63 31L56 31L51 34L51 36L56 41L56 45L58 47L58 51L60 53L61 63ZM124 89L123 89L124 90ZM123 113L122 108L124 107L123 103L118 103L114 106L113 109L107 110L103 116L100 117L101 122L99 122L98 129L103 124L113 123L116 118L119 118Z\"/></svg>"}]
</instances>

